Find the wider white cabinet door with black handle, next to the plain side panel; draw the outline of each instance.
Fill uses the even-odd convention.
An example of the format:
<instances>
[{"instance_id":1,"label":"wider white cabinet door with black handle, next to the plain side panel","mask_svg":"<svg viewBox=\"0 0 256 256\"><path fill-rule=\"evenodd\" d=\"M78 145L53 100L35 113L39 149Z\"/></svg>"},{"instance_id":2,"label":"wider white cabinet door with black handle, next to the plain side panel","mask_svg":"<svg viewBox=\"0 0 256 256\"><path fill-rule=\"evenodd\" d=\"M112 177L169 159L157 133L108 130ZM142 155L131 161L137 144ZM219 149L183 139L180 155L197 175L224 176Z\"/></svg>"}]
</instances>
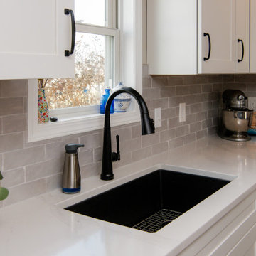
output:
<instances>
[{"instance_id":1,"label":"wider white cabinet door with black handle, next to the plain side panel","mask_svg":"<svg viewBox=\"0 0 256 256\"><path fill-rule=\"evenodd\" d=\"M234 41L235 1L199 0L198 73L234 73Z\"/></svg>"}]
</instances>

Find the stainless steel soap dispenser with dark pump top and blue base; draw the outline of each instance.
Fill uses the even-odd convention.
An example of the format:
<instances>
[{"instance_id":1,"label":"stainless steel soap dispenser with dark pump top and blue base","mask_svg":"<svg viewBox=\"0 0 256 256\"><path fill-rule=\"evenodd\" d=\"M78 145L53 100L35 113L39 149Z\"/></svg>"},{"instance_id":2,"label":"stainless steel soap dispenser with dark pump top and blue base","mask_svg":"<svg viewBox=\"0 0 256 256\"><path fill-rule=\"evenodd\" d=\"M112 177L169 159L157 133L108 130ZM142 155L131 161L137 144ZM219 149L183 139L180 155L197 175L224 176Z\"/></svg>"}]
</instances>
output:
<instances>
[{"instance_id":1,"label":"stainless steel soap dispenser with dark pump top and blue base","mask_svg":"<svg viewBox=\"0 0 256 256\"><path fill-rule=\"evenodd\" d=\"M78 148L83 144L66 144L63 167L63 193L78 193L81 190L81 176L78 162Z\"/></svg>"}]
</instances>

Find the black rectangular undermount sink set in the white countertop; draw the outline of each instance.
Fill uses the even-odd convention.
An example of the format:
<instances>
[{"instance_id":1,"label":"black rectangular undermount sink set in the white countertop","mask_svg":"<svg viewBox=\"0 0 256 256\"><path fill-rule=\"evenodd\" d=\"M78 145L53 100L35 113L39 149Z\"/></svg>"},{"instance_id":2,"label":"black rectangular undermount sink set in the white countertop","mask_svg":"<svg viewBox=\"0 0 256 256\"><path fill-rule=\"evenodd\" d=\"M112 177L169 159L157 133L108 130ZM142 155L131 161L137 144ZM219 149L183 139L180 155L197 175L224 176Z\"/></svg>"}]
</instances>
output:
<instances>
[{"instance_id":1,"label":"black rectangular undermount sink set in the white countertop","mask_svg":"<svg viewBox=\"0 0 256 256\"><path fill-rule=\"evenodd\" d=\"M156 232L229 182L157 170L65 209L110 223Z\"/></svg>"}]
</instances>

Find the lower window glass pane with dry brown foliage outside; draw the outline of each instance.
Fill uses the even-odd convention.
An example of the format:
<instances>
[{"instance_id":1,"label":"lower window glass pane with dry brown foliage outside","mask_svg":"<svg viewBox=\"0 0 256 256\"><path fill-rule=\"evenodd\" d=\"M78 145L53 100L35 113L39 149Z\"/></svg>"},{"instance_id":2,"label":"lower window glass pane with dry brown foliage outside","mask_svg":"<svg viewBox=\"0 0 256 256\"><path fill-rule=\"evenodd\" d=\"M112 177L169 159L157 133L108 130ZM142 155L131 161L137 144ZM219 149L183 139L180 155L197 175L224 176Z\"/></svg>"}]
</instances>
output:
<instances>
[{"instance_id":1,"label":"lower window glass pane with dry brown foliage outside","mask_svg":"<svg viewBox=\"0 0 256 256\"><path fill-rule=\"evenodd\" d=\"M77 32L75 79L48 80L46 100L49 108L100 105L105 85L112 82L112 65L106 65L112 63L112 58L112 36Z\"/></svg>"}]
</instances>

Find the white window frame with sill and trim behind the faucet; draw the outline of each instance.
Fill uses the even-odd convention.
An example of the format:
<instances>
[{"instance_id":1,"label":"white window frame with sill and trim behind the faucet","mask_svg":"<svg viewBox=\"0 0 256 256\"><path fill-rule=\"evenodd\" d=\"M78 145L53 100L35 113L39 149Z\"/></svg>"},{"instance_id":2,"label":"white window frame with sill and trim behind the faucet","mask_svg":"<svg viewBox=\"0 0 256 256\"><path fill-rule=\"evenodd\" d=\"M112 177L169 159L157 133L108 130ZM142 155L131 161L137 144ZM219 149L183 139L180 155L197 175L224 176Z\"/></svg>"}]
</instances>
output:
<instances>
[{"instance_id":1,"label":"white window frame with sill and trim behind the faucet","mask_svg":"<svg viewBox=\"0 0 256 256\"><path fill-rule=\"evenodd\" d=\"M119 36L115 36L115 38L119 38L119 56L114 57L118 58L115 61L119 63L119 81L142 93L142 0L119 0L119 14ZM92 28L92 26L83 26L87 31ZM99 34L105 33L101 27L93 26L93 28L95 27L97 27ZM117 31L112 28L108 29L110 30L109 33L116 33L114 31ZM117 75L115 74L115 77ZM58 122L38 124L37 97L37 80L28 80L28 142L103 128L104 115L94 114L93 108L95 106L87 107L89 110L87 114L82 113L82 107L72 108L76 110L76 116L69 117L68 110L65 110L67 115L59 119ZM129 112L111 114L112 127L139 120L139 107L137 105L134 105Z\"/></svg>"}]
</instances>

